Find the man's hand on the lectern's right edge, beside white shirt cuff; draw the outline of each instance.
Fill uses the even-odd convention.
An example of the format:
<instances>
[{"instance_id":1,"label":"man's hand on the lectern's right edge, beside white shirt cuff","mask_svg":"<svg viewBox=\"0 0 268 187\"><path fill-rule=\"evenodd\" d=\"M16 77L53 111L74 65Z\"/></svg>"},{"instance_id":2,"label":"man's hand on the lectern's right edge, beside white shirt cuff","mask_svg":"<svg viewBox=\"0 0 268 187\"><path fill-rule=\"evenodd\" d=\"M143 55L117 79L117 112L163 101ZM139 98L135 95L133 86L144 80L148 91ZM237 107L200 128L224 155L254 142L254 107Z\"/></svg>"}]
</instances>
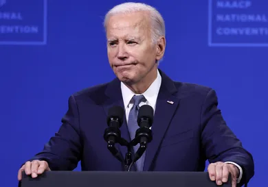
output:
<instances>
[{"instance_id":1,"label":"man's hand on the lectern's right edge, beside white shirt cuff","mask_svg":"<svg viewBox=\"0 0 268 187\"><path fill-rule=\"evenodd\" d=\"M239 170L234 164L224 162L216 162L208 165L208 173L212 181L216 180L216 184L222 185L227 182L229 173L232 175L232 187L236 187L236 179L239 176Z\"/></svg>"}]
</instances>

